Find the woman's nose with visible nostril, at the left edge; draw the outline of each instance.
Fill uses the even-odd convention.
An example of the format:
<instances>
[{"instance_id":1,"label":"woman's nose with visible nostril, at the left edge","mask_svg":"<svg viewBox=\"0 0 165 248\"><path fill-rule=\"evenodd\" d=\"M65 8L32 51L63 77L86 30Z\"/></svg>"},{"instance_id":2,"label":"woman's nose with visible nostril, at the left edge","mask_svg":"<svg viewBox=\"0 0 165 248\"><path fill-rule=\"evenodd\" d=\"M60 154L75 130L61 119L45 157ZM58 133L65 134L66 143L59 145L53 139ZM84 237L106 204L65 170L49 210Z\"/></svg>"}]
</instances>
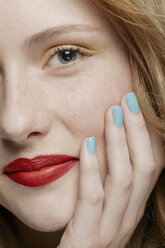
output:
<instances>
[{"instance_id":1,"label":"woman's nose with visible nostril, at the left edge","mask_svg":"<svg viewBox=\"0 0 165 248\"><path fill-rule=\"evenodd\" d=\"M45 135L50 123L39 90L27 81L16 82L16 77L8 78L4 85L0 138L25 145Z\"/></svg>"}]
</instances>

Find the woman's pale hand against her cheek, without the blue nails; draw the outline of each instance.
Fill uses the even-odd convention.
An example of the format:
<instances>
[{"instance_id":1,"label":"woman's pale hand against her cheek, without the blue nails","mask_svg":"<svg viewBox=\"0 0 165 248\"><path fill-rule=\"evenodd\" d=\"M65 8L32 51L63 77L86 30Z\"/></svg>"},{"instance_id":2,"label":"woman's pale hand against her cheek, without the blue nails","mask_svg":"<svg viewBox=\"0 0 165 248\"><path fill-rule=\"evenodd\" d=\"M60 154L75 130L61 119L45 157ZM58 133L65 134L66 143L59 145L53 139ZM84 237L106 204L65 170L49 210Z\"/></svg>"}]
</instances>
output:
<instances>
[{"instance_id":1,"label":"woman's pale hand against her cheek, without the blue nails","mask_svg":"<svg viewBox=\"0 0 165 248\"><path fill-rule=\"evenodd\" d=\"M136 103L136 97L133 100ZM97 156L87 151L86 138L80 152L79 198L59 248L124 248L164 168L162 140L147 128L141 111L132 113L122 97L124 125L116 126L114 107L105 116L108 174L104 188Z\"/></svg>"}]
</instances>

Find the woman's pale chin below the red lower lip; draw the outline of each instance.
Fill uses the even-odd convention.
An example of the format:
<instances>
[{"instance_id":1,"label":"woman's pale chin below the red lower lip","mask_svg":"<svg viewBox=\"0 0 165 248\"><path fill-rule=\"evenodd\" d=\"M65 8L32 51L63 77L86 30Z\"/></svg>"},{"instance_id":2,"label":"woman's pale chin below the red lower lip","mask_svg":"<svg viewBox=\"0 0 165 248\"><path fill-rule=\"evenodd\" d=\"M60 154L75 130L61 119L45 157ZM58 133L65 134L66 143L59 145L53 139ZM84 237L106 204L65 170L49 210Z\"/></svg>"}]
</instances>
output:
<instances>
[{"instance_id":1,"label":"woman's pale chin below the red lower lip","mask_svg":"<svg viewBox=\"0 0 165 248\"><path fill-rule=\"evenodd\" d=\"M55 232L67 226L75 212L78 198L77 171L65 180L53 182L39 190L17 191L10 194L5 208L16 221L41 232Z\"/></svg>"}]
</instances>

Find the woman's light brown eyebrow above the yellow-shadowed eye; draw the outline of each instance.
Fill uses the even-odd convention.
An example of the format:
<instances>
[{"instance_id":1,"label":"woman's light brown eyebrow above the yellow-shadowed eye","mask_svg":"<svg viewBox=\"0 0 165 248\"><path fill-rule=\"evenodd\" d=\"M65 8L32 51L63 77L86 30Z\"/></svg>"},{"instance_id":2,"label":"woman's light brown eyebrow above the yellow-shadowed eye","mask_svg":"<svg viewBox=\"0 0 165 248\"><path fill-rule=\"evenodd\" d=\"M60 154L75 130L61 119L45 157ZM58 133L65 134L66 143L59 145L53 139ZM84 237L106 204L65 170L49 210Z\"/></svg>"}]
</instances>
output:
<instances>
[{"instance_id":1,"label":"woman's light brown eyebrow above the yellow-shadowed eye","mask_svg":"<svg viewBox=\"0 0 165 248\"><path fill-rule=\"evenodd\" d=\"M70 32L100 32L101 28L95 27L93 25L79 24L79 25L62 25L48 28L44 31L36 33L31 37L26 38L23 43L23 49L30 49L34 44L42 43L53 36L59 36L61 34L66 34Z\"/></svg>"}]
</instances>

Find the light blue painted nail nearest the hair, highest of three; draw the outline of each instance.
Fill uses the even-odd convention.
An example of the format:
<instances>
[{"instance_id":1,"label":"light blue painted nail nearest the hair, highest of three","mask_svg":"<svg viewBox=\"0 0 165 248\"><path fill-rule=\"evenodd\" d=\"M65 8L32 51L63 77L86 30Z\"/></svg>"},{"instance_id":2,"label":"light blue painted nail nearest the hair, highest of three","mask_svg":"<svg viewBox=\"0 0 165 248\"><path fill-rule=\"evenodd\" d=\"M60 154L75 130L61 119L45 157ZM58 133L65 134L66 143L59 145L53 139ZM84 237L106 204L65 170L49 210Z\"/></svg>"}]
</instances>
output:
<instances>
[{"instance_id":1,"label":"light blue painted nail nearest the hair, highest of three","mask_svg":"<svg viewBox=\"0 0 165 248\"><path fill-rule=\"evenodd\" d=\"M127 106L129 110L131 111L131 113L137 114L139 112L139 104L138 104L135 93L131 92L128 95L126 95L125 98L126 98Z\"/></svg>"}]
</instances>

